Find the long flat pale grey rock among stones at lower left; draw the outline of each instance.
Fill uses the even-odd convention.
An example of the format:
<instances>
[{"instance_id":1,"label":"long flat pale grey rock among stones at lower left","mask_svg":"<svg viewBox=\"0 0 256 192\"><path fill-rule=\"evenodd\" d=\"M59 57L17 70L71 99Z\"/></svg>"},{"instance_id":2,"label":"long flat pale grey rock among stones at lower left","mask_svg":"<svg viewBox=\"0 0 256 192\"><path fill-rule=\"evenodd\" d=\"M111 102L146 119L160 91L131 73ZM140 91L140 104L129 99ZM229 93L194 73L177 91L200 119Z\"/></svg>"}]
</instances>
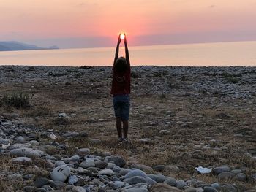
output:
<instances>
[{"instance_id":1,"label":"long flat pale grey rock among stones at lower left","mask_svg":"<svg viewBox=\"0 0 256 192\"><path fill-rule=\"evenodd\" d=\"M31 148L19 148L10 151L10 155L18 156L18 157L28 157L28 158L39 158L41 157L42 151L33 150Z\"/></svg>"}]
</instances>

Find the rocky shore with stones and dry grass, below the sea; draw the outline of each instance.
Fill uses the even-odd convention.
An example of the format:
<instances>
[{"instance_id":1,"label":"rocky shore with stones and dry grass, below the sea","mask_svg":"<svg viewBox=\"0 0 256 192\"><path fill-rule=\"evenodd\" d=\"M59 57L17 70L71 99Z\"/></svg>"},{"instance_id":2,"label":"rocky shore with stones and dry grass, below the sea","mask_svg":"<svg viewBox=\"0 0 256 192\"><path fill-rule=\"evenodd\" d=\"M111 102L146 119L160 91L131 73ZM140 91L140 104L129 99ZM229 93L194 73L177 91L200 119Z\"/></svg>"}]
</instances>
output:
<instances>
[{"instance_id":1,"label":"rocky shore with stones and dry grass, below the sea","mask_svg":"<svg viewBox=\"0 0 256 192\"><path fill-rule=\"evenodd\" d=\"M0 191L256 191L256 67L133 66L118 143L110 67L0 66Z\"/></svg>"}]
</instances>

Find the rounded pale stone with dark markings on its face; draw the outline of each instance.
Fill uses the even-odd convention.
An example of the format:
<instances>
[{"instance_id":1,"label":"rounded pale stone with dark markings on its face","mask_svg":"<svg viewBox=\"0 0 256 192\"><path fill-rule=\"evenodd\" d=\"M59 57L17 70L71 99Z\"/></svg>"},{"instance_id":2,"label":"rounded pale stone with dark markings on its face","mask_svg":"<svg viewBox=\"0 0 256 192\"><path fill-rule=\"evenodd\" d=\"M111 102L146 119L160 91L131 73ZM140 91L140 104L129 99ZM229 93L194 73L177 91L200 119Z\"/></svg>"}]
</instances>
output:
<instances>
[{"instance_id":1,"label":"rounded pale stone with dark markings on its face","mask_svg":"<svg viewBox=\"0 0 256 192\"><path fill-rule=\"evenodd\" d=\"M64 182L69 177L70 168L67 165L57 166L53 169L53 172L50 173L50 178L53 181L61 181Z\"/></svg>"}]
</instances>

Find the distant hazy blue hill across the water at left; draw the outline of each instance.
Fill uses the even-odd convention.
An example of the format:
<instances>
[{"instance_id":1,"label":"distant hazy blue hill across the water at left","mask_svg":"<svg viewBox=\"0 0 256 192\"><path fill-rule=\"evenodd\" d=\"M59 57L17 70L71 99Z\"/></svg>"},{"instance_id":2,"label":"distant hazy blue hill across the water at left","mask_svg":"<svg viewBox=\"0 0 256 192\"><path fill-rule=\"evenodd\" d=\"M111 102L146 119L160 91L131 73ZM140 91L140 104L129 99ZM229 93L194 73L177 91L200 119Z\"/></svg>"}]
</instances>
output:
<instances>
[{"instance_id":1,"label":"distant hazy blue hill across the water at left","mask_svg":"<svg viewBox=\"0 0 256 192\"><path fill-rule=\"evenodd\" d=\"M36 45L29 45L23 42L0 42L0 51L7 50L53 50L59 49L58 46L37 47Z\"/></svg>"}]
</instances>

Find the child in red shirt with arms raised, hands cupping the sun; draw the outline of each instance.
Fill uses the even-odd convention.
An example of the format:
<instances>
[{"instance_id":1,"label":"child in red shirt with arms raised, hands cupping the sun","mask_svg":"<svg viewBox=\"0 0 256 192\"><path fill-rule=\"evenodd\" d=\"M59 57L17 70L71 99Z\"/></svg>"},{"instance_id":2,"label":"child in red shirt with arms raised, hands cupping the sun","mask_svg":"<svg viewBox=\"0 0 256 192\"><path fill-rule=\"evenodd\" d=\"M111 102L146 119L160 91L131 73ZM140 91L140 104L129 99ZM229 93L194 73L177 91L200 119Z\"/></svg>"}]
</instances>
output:
<instances>
[{"instance_id":1,"label":"child in red shirt with arms raised, hands cupping the sun","mask_svg":"<svg viewBox=\"0 0 256 192\"><path fill-rule=\"evenodd\" d=\"M127 47L127 37L124 34L125 58L119 57L119 45L121 34L119 34L116 45L116 54L113 63L113 80L111 94L113 94L113 107L116 116L116 129L118 142L127 142L128 120L129 120L129 93L131 92L131 67L129 64L129 52ZM122 134L123 123L123 134Z\"/></svg>"}]
</instances>

